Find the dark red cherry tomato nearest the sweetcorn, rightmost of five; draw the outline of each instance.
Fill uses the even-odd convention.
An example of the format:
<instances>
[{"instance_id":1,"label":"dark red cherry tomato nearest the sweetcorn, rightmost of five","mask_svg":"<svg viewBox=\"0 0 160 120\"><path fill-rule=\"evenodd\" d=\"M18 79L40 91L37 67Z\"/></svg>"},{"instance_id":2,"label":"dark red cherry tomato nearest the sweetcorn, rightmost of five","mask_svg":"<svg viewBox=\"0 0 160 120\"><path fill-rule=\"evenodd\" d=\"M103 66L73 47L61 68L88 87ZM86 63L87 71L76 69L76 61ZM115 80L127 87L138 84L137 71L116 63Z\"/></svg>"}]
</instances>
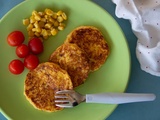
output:
<instances>
[{"instance_id":1,"label":"dark red cherry tomato nearest the sweetcorn, rightmost of five","mask_svg":"<svg viewBox=\"0 0 160 120\"><path fill-rule=\"evenodd\" d=\"M33 54L40 54L43 52L43 43L39 38L32 38L28 42L28 47Z\"/></svg>"}]
</instances>

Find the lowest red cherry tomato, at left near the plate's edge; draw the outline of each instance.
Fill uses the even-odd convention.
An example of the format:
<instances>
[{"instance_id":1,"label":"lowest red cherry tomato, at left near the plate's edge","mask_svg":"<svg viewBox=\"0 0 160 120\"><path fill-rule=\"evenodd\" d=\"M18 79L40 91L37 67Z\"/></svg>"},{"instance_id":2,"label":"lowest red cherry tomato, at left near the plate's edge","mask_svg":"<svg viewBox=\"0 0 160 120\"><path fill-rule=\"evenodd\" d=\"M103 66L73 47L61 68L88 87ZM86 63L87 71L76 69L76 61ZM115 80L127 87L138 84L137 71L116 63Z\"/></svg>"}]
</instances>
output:
<instances>
[{"instance_id":1,"label":"lowest red cherry tomato, at left near the plate's edge","mask_svg":"<svg viewBox=\"0 0 160 120\"><path fill-rule=\"evenodd\" d=\"M24 70L24 64L22 61L15 59L9 63L9 71L13 74L21 74Z\"/></svg>"}]
</instances>

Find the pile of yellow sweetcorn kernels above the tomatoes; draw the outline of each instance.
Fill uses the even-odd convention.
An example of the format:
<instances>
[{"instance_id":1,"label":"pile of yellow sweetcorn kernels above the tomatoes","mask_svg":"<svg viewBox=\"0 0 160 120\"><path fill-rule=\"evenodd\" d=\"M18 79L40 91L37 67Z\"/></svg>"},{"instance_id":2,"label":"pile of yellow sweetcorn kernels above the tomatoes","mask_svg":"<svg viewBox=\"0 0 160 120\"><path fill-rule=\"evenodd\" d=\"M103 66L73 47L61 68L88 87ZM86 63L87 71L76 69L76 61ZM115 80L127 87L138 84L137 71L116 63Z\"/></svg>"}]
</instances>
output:
<instances>
[{"instance_id":1,"label":"pile of yellow sweetcorn kernels above the tomatoes","mask_svg":"<svg viewBox=\"0 0 160 120\"><path fill-rule=\"evenodd\" d=\"M29 18L23 19L23 24L27 26L29 38L39 37L42 40L49 36L55 36L58 31L65 28L64 21L67 15L63 11L54 12L46 8L43 12L32 11Z\"/></svg>"}]
</instances>

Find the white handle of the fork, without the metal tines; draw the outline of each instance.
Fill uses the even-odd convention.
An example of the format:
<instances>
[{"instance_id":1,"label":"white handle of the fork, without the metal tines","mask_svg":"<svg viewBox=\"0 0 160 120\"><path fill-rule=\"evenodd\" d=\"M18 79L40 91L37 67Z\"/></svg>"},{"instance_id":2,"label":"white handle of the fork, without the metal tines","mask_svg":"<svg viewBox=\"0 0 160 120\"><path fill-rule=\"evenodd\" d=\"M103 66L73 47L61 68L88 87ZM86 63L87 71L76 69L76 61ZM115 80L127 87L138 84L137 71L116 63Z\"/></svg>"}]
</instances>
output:
<instances>
[{"instance_id":1,"label":"white handle of the fork, without the metal tines","mask_svg":"<svg viewBox=\"0 0 160 120\"><path fill-rule=\"evenodd\" d=\"M87 94L86 103L123 104L155 100L155 94L139 93L102 93Z\"/></svg>"}]
</instances>

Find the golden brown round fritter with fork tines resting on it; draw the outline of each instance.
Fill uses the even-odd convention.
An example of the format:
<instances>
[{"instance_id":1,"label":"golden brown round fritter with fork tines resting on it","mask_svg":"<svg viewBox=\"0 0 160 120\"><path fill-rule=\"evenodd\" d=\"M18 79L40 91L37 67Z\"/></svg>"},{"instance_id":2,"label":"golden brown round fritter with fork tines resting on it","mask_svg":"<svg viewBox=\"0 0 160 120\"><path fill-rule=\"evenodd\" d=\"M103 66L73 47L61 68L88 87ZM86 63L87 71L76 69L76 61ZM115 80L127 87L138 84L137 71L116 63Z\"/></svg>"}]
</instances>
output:
<instances>
[{"instance_id":1,"label":"golden brown round fritter with fork tines resting on it","mask_svg":"<svg viewBox=\"0 0 160 120\"><path fill-rule=\"evenodd\" d=\"M56 112L63 108L55 106L55 92L66 89L73 89L68 73L55 63L45 62L27 74L24 95L36 109Z\"/></svg>"}]
</instances>

